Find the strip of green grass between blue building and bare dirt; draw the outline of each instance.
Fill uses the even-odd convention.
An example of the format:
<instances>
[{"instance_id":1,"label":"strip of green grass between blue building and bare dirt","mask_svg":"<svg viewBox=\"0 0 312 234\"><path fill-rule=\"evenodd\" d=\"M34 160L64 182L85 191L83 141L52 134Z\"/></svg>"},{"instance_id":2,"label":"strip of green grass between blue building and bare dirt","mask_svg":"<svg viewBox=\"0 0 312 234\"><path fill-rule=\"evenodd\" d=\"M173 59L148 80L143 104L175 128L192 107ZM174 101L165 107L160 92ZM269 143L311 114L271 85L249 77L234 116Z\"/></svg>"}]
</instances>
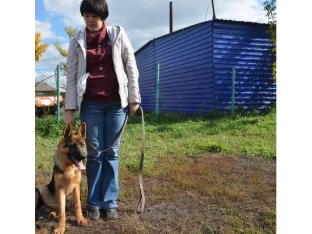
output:
<instances>
[{"instance_id":1,"label":"strip of green grass between blue building and bare dirt","mask_svg":"<svg viewBox=\"0 0 312 234\"><path fill-rule=\"evenodd\" d=\"M137 170L141 151L139 116L129 117L120 147L120 167ZM79 124L75 116L74 129ZM195 156L214 152L276 158L276 112L264 115L186 116L145 114L146 156L144 167L153 167L158 157ZM53 155L64 124L56 117L36 118L36 170L51 170Z\"/></svg>"}]
</instances>

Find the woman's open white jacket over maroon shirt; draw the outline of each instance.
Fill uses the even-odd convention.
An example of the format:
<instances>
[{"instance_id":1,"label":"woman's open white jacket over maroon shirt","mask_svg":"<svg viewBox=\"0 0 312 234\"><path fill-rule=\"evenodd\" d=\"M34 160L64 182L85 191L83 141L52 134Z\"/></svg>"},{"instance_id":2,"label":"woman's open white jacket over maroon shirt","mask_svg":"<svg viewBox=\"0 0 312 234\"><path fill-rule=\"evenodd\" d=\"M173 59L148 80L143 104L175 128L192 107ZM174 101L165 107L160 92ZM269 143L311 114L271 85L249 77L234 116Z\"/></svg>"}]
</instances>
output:
<instances>
[{"instance_id":1,"label":"woman's open white jacket over maroon shirt","mask_svg":"<svg viewBox=\"0 0 312 234\"><path fill-rule=\"evenodd\" d=\"M119 84L118 93L121 107L128 103L141 103L138 87L138 71L135 55L131 42L120 26L106 25L108 38L112 44L112 58ZM64 109L77 110L80 113L80 105L86 89L88 78L86 60L86 34L79 31L69 42L67 56L67 82Z\"/></svg>"}]
</instances>

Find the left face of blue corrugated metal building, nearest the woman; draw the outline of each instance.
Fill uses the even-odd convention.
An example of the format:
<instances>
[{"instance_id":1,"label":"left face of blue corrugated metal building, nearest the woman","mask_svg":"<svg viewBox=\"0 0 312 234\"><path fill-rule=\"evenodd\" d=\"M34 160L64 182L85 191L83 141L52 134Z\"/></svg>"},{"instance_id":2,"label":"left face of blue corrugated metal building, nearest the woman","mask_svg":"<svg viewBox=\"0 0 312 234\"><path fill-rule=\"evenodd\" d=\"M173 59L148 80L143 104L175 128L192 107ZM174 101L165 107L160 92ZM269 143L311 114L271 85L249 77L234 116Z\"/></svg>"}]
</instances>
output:
<instances>
[{"instance_id":1,"label":"left face of blue corrugated metal building, nearest the woman","mask_svg":"<svg viewBox=\"0 0 312 234\"><path fill-rule=\"evenodd\" d=\"M142 107L155 108L155 64L160 63L159 111L208 113L213 108L212 22L151 41L136 52Z\"/></svg>"}]
</instances>

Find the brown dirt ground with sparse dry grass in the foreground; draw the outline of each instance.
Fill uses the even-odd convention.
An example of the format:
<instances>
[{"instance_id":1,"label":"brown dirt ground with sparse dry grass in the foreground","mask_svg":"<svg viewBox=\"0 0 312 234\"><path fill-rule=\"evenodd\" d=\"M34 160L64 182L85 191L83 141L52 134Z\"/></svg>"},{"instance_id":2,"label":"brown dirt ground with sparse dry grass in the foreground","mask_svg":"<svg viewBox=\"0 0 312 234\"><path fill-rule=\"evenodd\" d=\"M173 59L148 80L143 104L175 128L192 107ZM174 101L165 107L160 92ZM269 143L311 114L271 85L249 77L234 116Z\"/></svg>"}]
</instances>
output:
<instances>
[{"instance_id":1,"label":"brown dirt ground with sparse dry grass in the foreground","mask_svg":"<svg viewBox=\"0 0 312 234\"><path fill-rule=\"evenodd\" d=\"M77 227L69 211L65 233L276 233L276 161L216 154L173 156L159 158L154 168L143 173L143 214L135 213L137 173L121 170L119 219L88 220L86 227ZM37 175L36 185L49 180L48 175ZM82 190L85 196L84 186ZM35 223L37 234L49 234L57 218L36 219Z\"/></svg>"}]
</instances>

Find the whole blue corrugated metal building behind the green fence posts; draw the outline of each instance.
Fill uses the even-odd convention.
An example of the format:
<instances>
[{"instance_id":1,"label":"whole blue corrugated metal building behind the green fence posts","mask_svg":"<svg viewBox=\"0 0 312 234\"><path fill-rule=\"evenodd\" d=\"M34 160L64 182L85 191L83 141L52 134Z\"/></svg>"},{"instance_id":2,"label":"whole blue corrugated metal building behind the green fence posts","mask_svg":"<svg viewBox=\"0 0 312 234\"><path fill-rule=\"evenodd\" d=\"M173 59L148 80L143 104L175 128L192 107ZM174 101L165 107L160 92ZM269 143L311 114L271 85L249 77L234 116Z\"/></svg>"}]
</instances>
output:
<instances>
[{"instance_id":1,"label":"whole blue corrugated metal building behind the green fence posts","mask_svg":"<svg viewBox=\"0 0 312 234\"><path fill-rule=\"evenodd\" d=\"M135 53L142 107L155 110L160 63L159 111L188 114L253 110L276 103L268 24L210 20L150 40Z\"/></svg>"}]
</instances>

